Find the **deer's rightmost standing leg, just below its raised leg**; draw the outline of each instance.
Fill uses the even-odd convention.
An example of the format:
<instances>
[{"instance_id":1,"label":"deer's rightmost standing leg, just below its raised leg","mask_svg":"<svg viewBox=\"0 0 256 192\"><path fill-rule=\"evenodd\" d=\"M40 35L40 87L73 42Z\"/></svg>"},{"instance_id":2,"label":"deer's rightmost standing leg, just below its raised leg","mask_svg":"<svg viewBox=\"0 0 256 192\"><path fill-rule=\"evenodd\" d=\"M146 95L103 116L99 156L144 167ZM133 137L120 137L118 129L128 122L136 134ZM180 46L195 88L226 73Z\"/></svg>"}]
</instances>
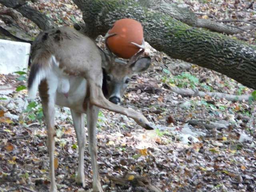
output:
<instances>
[{"instance_id":1,"label":"deer's rightmost standing leg, just below its raised leg","mask_svg":"<svg viewBox=\"0 0 256 192\"><path fill-rule=\"evenodd\" d=\"M93 172L93 191L94 192L103 192L100 184L100 176L98 173L97 166L97 143L96 143L96 124L98 120L99 108L90 104L87 104L87 128L88 128L88 137L89 137L89 150L90 156L92 159L92 172Z\"/></svg>"}]
</instances>

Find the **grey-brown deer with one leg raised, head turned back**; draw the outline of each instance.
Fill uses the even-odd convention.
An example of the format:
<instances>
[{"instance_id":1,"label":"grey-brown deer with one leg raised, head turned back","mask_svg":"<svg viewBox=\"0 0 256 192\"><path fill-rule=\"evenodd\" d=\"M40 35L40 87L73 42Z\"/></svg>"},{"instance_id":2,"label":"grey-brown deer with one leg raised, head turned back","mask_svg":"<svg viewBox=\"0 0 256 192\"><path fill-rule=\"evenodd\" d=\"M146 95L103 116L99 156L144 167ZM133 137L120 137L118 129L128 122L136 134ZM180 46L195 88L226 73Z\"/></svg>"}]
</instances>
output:
<instances>
[{"instance_id":1,"label":"grey-brown deer with one leg raised, head turned back","mask_svg":"<svg viewBox=\"0 0 256 192\"><path fill-rule=\"evenodd\" d=\"M68 27L41 32L32 45L32 65L28 78L30 98L39 94L48 129L50 192L56 192L54 176L54 105L69 107L78 140L76 182L84 181L84 114L87 118L89 150L92 159L93 191L103 192L97 168L96 122L99 108L124 114L140 126L152 129L148 120L135 110L116 105L133 74L146 70L149 57L128 63L100 50L93 40ZM109 98L107 100L106 98ZM115 104L114 104L115 103Z\"/></svg>"}]
</instances>

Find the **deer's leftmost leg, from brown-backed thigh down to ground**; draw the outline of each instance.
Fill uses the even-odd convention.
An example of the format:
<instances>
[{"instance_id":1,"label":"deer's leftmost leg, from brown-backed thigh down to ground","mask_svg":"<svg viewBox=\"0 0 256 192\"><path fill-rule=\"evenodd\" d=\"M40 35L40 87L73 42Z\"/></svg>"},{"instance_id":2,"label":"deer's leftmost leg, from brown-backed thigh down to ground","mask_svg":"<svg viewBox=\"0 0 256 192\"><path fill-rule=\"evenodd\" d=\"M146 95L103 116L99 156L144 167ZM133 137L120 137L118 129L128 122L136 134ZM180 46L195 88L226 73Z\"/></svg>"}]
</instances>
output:
<instances>
[{"instance_id":1,"label":"deer's leftmost leg, from brown-backed thigh down to ground","mask_svg":"<svg viewBox=\"0 0 256 192\"><path fill-rule=\"evenodd\" d=\"M56 136L56 132L54 130L54 118L55 118L55 94L56 91L55 84L49 88L50 82L47 80L43 80L39 86L40 98L42 100L42 108L44 113L44 118L47 127L47 148L50 157L50 192L57 192L56 182L55 182L55 174L54 174L54 148L55 142L54 137Z\"/></svg>"}]
</instances>

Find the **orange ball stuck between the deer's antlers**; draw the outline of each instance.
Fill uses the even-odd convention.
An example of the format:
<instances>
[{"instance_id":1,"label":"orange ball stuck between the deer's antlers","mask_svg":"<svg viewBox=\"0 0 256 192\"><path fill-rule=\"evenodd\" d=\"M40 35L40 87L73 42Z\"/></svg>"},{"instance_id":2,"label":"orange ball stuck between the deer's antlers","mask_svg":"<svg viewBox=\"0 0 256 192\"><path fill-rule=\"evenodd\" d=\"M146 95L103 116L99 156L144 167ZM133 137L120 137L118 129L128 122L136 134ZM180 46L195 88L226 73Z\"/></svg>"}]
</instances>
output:
<instances>
[{"instance_id":1,"label":"orange ball stuck between the deer's antlers","mask_svg":"<svg viewBox=\"0 0 256 192\"><path fill-rule=\"evenodd\" d=\"M117 20L108 31L108 34L112 33L116 33L116 35L107 38L106 43L116 56L129 59L140 50L139 47L131 43L142 44L143 28L140 22L128 18Z\"/></svg>"}]
</instances>

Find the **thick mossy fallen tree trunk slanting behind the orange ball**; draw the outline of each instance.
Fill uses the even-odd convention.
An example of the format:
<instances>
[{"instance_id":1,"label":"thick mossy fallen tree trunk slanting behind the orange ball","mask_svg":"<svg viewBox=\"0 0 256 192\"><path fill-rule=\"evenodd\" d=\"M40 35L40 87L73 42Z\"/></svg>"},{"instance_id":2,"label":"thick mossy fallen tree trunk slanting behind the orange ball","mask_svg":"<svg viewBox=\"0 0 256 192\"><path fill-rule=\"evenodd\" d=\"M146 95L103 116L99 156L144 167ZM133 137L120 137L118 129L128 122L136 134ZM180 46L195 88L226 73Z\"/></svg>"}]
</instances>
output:
<instances>
[{"instance_id":1,"label":"thick mossy fallen tree trunk slanting behind the orange ball","mask_svg":"<svg viewBox=\"0 0 256 192\"><path fill-rule=\"evenodd\" d=\"M134 18L144 27L145 40L172 58L225 74L256 89L256 51L222 34L190 26L133 0L73 0L83 12L87 34L104 35L121 18Z\"/></svg>"}]
</instances>

